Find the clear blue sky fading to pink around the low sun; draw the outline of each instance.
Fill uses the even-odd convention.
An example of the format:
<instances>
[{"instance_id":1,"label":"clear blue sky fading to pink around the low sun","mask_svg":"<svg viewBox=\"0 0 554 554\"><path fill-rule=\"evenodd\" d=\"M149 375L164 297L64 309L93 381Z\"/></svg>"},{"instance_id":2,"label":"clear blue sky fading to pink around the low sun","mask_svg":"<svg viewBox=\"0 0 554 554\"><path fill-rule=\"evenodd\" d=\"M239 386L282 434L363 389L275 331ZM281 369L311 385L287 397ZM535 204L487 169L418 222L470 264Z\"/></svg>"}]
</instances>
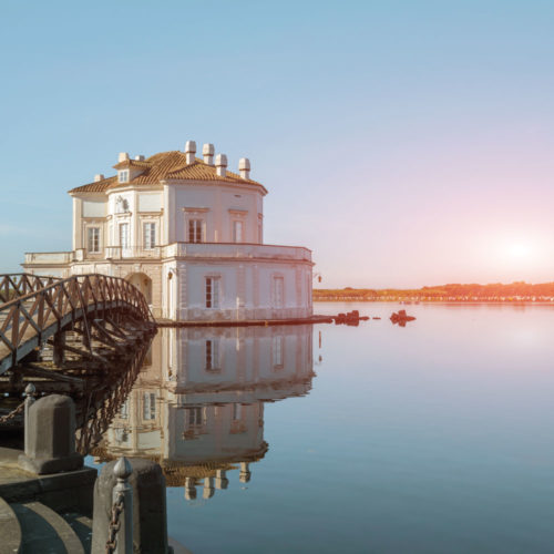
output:
<instances>
[{"instance_id":1,"label":"clear blue sky fading to pink around the low sun","mask_svg":"<svg viewBox=\"0 0 554 554\"><path fill-rule=\"evenodd\" d=\"M0 1L0 271L70 188L211 142L319 287L554 280L554 2Z\"/></svg>"}]
</instances>

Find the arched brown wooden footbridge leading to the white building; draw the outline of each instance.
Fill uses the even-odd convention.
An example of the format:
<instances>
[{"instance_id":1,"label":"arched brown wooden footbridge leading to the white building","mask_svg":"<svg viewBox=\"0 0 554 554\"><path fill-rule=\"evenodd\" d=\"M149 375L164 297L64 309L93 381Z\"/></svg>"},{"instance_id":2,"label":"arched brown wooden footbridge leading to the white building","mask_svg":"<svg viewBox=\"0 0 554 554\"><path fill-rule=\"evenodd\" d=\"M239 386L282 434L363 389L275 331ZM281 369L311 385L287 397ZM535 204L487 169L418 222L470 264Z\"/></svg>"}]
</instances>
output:
<instances>
[{"instance_id":1,"label":"arched brown wooden footbridge leading to the white building","mask_svg":"<svg viewBox=\"0 0 554 554\"><path fill-rule=\"evenodd\" d=\"M63 352L76 350L65 345L68 330L78 334L85 348L76 353L102 360L93 342L121 347L129 340L122 321L135 324L134 331L151 327L152 321L143 295L133 285L96 274L66 279L2 275L0 302L0 375L48 342L60 365Z\"/></svg>"}]
</instances>

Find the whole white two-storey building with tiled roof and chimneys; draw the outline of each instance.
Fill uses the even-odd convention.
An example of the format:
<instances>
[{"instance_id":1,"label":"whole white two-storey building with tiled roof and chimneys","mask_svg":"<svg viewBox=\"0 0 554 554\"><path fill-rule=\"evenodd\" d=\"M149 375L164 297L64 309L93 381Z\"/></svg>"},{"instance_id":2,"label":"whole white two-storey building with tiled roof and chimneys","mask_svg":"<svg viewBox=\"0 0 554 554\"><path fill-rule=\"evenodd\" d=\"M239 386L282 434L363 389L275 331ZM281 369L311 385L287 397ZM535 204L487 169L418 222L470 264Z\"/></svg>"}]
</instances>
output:
<instances>
[{"instance_id":1,"label":"whole white two-storey building with tiled roof and chimneys","mask_svg":"<svg viewBox=\"0 0 554 554\"><path fill-rule=\"evenodd\" d=\"M28 273L123 277L173 320L311 316L311 252L263 244L267 189L247 158L235 174L213 144L201 160L188 141L148 158L121 153L113 167L69 192L72 252L25 254Z\"/></svg>"}]
</instances>

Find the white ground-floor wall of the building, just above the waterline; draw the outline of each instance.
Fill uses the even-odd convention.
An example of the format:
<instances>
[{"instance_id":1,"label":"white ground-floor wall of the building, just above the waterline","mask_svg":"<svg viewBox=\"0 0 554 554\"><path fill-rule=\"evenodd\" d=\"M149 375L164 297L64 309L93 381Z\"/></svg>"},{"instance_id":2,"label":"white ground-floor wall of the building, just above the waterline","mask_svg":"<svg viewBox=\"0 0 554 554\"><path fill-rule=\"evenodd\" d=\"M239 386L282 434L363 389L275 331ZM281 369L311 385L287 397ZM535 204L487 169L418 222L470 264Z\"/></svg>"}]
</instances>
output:
<instances>
[{"instance_id":1,"label":"white ground-floor wall of the building, just above the waterline","mask_svg":"<svg viewBox=\"0 0 554 554\"><path fill-rule=\"evenodd\" d=\"M194 245L199 246L199 245ZM24 264L35 275L100 273L132 281L151 300L155 318L177 321L297 319L312 315L308 259L165 258L83 260L66 266ZM217 307L206 308L206 278L217 279ZM276 279L281 290L276 290Z\"/></svg>"}]
</instances>

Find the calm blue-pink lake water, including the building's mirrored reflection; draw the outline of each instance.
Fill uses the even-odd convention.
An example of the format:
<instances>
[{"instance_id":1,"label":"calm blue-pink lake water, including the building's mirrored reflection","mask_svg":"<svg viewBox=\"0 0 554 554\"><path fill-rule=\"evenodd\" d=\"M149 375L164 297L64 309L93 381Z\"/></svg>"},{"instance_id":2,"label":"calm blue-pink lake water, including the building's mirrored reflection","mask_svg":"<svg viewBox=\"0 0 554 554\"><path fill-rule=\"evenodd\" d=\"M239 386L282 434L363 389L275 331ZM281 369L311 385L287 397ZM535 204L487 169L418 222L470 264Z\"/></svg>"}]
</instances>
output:
<instances>
[{"instance_id":1,"label":"calm blue-pink lake water, including the building's mirrored reflection","mask_svg":"<svg viewBox=\"0 0 554 554\"><path fill-rule=\"evenodd\" d=\"M353 308L160 332L96 460L158 459L195 554L553 552L554 308Z\"/></svg>"}]
</instances>

